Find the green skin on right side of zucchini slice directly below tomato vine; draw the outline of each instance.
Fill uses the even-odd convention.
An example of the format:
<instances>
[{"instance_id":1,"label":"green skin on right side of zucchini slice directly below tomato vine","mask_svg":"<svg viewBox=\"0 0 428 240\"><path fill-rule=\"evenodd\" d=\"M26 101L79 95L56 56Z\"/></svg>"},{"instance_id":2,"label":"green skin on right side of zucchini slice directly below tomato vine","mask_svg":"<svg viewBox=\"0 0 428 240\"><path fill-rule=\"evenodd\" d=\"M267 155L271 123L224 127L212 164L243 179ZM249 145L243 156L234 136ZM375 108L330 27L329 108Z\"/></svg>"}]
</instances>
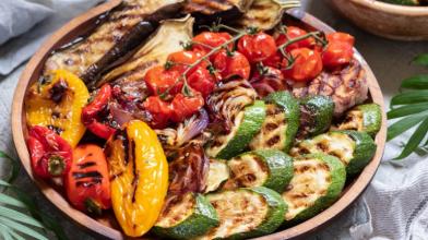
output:
<instances>
[{"instance_id":1,"label":"green skin on right side of zucchini slice directly below tomato vine","mask_svg":"<svg viewBox=\"0 0 428 240\"><path fill-rule=\"evenodd\" d=\"M268 95L264 100L275 104L283 108L287 121L287 130L285 132L284 152L288 152L299 129L300 109L299 101L288 92L275 92Z\"/></svg>"}]
</instances>

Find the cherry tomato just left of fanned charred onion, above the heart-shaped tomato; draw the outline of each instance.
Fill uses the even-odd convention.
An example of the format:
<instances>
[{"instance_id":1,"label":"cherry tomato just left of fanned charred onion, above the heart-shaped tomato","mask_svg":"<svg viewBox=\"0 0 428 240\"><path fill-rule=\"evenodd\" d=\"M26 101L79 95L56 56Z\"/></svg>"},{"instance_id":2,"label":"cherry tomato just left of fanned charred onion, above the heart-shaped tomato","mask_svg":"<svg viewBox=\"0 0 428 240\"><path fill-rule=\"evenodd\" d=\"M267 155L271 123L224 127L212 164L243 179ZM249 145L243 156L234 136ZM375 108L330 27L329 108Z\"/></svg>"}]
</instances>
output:
<instances>
[{"instance_id":1,"label":"cherry tomato just left of fanned charred onion, above the heart-shaped tomato","mask_svg":"<svg viewBox=\"0 0 428 240\"><path fill-rule=\"evenodd\" d=\"M214 91L216 77L211 74L206 68L199 67L192 74L188 77L189 85L200 92L203 97L209 96Z\"/></svg>"}]
</instances>

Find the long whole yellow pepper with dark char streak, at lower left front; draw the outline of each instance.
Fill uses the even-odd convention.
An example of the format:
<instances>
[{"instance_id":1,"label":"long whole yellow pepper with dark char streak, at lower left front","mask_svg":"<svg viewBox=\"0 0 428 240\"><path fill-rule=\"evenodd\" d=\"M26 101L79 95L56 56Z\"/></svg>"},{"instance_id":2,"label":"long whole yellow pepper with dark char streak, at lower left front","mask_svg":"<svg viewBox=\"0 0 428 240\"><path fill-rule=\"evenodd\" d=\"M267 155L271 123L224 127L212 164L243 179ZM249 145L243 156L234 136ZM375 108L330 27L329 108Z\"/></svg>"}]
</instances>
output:
<instances>
[{"instance_id":1,"label":"long whole yellow pepper with dark char streak, at lower left front","mask_svg":"<svg viewBox=\"0 0 428 240\"><path fill-rule=\"evenodd\" d=\"M147 232L160 214L168 189L168 163L156 133L132 120L105 148L116 218L129 237Z\"/></svg>"}]
</instances>

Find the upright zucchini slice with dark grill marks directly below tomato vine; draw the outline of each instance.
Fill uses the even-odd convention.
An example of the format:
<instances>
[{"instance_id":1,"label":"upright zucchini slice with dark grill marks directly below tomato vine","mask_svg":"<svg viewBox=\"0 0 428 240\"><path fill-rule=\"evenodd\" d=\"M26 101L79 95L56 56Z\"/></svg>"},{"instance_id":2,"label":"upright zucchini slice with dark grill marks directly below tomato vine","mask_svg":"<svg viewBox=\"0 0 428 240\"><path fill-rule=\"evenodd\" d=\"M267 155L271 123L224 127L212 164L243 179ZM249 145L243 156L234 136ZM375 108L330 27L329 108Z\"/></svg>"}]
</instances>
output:
<instances>
[{"instance_id":1,"label":"upright zucchini slice with dark grill marks directly below tomato vine","mask_svg":"<svg viewBox=\"0 0 428 240\"><path fill-rule=\"evenodd\" d=\"M250 143L250 149L287 152L299 125L299 105L287 92L276 92L265 98L266 118Z\"/></svg>"}]
</instances>

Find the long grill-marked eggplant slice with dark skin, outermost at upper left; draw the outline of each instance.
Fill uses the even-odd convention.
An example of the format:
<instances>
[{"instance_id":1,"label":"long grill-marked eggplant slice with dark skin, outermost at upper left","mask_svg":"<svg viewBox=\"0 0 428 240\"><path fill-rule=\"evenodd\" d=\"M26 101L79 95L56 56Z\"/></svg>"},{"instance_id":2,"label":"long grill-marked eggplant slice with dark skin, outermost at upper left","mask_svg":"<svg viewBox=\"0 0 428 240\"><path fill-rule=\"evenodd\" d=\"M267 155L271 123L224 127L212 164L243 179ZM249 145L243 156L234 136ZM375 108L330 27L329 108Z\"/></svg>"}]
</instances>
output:
<instances>
[{"instance_id":1,"label":"long grill-marked eggplant slice with dark skin, outermost at upper left","mask_svg":"<svg viewBox=\"0 0 428 240\"><path fill-rule=\"evenodd\" d=\"M174 16L182 0L123 0L103 16L100 25L86 38L54 51L44 75L66 69L93 83L99 73L135 48L156 28L158 21Z\"/></svg>"}]
</instances>

